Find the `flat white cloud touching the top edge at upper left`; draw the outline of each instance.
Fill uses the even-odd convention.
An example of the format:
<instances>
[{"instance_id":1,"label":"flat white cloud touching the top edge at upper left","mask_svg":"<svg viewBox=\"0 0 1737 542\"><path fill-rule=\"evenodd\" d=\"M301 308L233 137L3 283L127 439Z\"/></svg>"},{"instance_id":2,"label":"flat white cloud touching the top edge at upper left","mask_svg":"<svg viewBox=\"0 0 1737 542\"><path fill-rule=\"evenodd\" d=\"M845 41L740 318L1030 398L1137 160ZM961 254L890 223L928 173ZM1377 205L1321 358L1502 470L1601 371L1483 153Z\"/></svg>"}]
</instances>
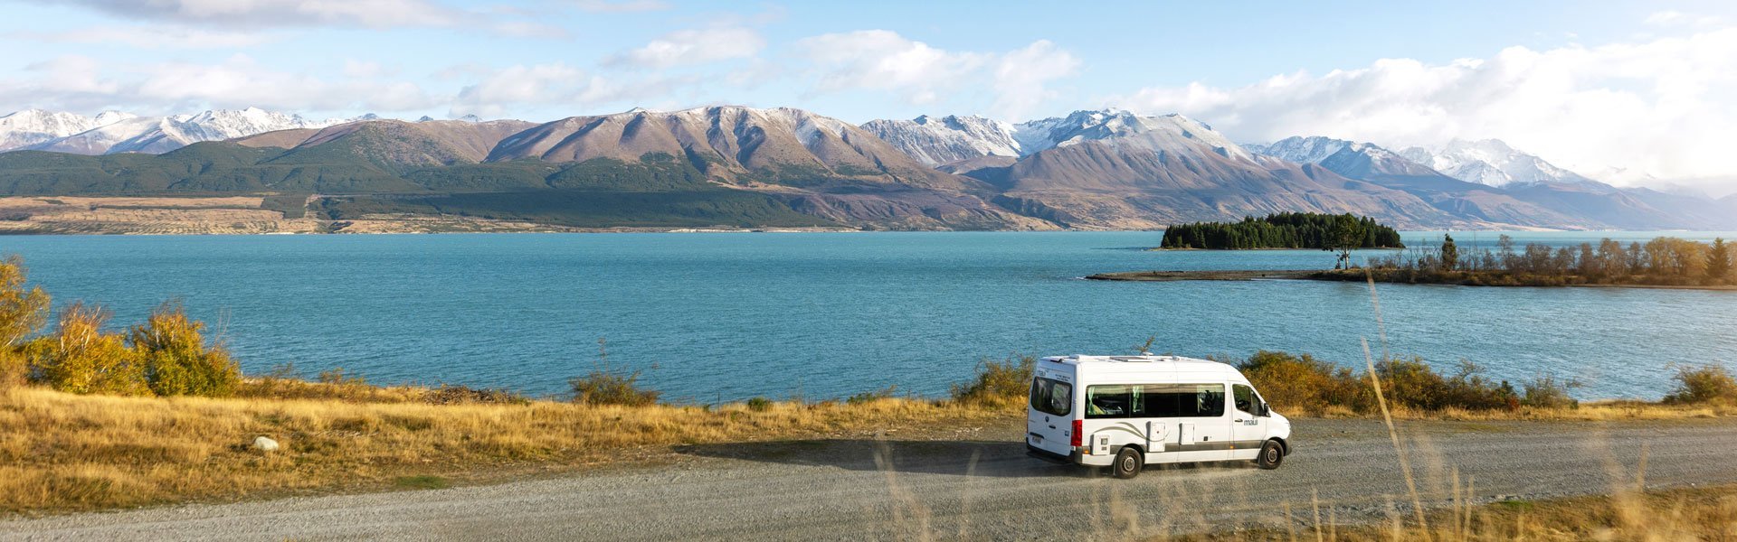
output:
<instances>
[{"instance_id":1,"label":"flat white cloud touching the top edge at upper left","mask_svg":"<svg viewBox=\"0 0 1737 542\"><path fill-rule=\"evenodd\" d=\"M427 0L49 0L111 16L238 26L452 26L462 12Z\"/></svg>"}]
</instances>

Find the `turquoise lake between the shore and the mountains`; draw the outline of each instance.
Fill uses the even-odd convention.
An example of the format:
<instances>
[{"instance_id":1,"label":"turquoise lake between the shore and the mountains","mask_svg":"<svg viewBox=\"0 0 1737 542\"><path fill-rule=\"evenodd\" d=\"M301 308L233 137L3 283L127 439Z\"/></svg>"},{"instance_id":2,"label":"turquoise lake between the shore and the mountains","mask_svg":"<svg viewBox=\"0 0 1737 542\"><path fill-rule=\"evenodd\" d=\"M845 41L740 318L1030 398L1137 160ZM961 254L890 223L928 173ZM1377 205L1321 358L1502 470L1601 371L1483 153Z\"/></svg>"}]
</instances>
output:
<instances>
[{"instance_id":1,"label":"turquoise lake between the shore and the mountains","mask_svg":"<svg viewBox=\"0 0 1737 542\"><path fill-rule=\"evenodd\" d=\"M1513 233L1570 245L1659 233ZM1711 240L1713 233L1664 233ZM1496 233L1456 233L1490 245ZM1725 233L1727 238L1737 235ZM1139 269L1331 268L1318 250L1146 252L1160 233L620 233L5 236L54 295L115 325L167 299L247 372L294 363L370 382L558 394L598 365L676 401L940 396L1013 353L1311 353L1362 367L1369 288L1318 281L1112 283ZM1440 240L1436 233L1405 233ZM1362 252L1358 257L1381 252ZM1674 365L1737 367L1737 292L1381 285L1388 344L1581 398L1657 398Z\"/></svg>"}]
</instances>

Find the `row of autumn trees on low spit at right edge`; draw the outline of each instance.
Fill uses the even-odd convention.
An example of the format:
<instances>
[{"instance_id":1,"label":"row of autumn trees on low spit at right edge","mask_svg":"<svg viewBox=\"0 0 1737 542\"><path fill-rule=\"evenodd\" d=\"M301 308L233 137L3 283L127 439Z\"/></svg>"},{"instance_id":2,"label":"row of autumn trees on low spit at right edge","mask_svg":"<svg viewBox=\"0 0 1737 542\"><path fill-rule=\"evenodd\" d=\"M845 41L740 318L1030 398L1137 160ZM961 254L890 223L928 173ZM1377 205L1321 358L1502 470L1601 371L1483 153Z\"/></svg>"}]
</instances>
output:
<instances>
[{"instance_id":1,"label":"row of autumn trees on low spit at right edge","mask_svg":"<svg viewBox=\"0 0 1737 542\"><path fill-rule=\"evenodd\" d=\"M1315 278L1398 283L1454 283L1494 287L1567 287L1567 285L1657 285L1657 287L1732 287L1737 285L1737 250L1725 240L1699 243L1661 236L1650 241L1615 240L1553 248L1542 243L1516 247L1501 236L1496 248L1463 248L1454 236L1440 247L1414 248L1370 259L1369 269L1320 273Z\"/></svg>"}]
</instances>

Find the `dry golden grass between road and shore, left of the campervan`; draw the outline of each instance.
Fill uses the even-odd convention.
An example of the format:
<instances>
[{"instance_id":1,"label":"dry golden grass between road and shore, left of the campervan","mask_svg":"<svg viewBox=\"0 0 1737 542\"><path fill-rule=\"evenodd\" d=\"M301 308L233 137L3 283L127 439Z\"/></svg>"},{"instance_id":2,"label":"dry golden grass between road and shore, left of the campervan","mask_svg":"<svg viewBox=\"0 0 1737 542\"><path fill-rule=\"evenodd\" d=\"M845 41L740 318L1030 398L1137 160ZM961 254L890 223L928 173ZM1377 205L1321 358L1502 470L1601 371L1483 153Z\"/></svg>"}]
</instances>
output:
<instances>
[{"instance_id":1,"label":"dry golden grass between road and shore, left of the campervan","mask_svg":"<svg viewBox=\"0 0 1737 542\"><path fill-rule=\"evenodd\" d=\"M321 384L307 384L321 386ZM681 443L860 436L1016 412L884 398L858 405L585 406L377 400L118 398L0 391L0 512L66 512L486 479L646 457ZM278 440L280 452L248 445Z\"/></svg>"}]
</instances>

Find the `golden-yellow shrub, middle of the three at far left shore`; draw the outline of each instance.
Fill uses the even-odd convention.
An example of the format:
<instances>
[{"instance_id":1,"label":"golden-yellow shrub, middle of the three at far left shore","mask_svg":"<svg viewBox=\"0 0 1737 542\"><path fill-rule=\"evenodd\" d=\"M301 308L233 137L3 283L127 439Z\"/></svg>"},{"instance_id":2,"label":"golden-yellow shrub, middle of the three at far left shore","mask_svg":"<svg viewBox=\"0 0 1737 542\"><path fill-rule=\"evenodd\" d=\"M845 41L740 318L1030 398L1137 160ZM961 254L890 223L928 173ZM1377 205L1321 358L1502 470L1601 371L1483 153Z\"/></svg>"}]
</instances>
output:
<instances>
[{"instance_id":1,"label":"golden-yellow shrub, middle of the three at far left shore","mask_svg":"<svg viewBox=\"0 0 1737 542\"><path fill-rule=\"evenodd\" d=\"M66 393L149 394L144 363L120 334L104 334L108 311L75 304L54 335L28 347L35 380Z\"/></svg>"}]
</instances>

